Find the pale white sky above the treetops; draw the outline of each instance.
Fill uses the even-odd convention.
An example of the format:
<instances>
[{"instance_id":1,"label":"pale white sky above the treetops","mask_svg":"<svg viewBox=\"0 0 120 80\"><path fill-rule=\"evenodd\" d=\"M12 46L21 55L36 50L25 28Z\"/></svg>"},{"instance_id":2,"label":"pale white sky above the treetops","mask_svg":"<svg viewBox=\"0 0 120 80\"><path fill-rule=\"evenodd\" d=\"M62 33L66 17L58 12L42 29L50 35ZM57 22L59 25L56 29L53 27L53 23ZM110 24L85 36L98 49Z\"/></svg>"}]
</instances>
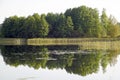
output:
<instances>
[{"instance_id":1,"label":"pale white sky above the treetops","mask_svg":"<svg viewBox=\"0 0 120 80\"><path fill-rule=\"evenodd\" d=\"M106 9L109 16L113 15L120 22L119 0L0 0L0 24L10 16L28 16L33 13L64 13L66 9L82 5L97 8L101 14Z\"/></svg>"}]
</instances>

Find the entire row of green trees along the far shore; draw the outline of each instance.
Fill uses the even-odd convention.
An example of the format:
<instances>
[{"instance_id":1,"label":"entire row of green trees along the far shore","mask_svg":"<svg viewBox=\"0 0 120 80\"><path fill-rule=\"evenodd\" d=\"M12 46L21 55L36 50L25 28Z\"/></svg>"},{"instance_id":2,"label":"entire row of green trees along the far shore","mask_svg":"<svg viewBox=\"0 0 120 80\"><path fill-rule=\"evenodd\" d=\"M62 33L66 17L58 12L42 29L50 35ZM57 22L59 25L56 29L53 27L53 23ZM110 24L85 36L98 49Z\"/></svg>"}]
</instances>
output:
<instances>
[{"instance_id":1,"label":"entire row of green trees along the far shore","mask_svg":"<svg viewBox=\"0 0 120 80\"><path fill-rule=\"evenodd\" d=\"M5 38L100 38L119 35L120 25L113 16L108 17L105 9L99 15L97 9L86 6L67 9L60 14L12 16L5 19L1 28L1 36Z\"/></svg>"}]
</instances>

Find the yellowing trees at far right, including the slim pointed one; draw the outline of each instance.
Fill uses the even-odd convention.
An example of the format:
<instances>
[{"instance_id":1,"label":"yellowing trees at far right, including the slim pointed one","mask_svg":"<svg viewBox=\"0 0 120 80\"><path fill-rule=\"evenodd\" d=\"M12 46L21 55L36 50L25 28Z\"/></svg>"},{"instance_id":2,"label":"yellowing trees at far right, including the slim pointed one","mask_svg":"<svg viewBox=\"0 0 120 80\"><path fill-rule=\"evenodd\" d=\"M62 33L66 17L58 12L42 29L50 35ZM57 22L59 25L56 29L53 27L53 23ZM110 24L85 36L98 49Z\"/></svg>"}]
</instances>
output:
<instances>
[{"instance_id":1,"label":"yellowing trees at far right, including the slim pointed one","mask_svg":"<svg viewBox=\"0 0 120 80\"><path fill-rule=\"evenodd\" d=\"M105 9L101 15L101 37L117 37L120 34L120 25L117 20L110 15L108 18Z\"/></svg>"}]
</instances>

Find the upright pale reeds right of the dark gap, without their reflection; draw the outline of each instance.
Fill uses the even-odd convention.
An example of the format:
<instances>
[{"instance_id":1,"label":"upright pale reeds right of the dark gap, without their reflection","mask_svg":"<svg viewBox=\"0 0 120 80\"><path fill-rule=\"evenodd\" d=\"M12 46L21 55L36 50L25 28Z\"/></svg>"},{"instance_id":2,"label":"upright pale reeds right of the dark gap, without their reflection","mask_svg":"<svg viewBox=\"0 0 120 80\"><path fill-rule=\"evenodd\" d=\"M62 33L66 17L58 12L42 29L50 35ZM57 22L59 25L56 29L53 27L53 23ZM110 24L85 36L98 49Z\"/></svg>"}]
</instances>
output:
<instances>
[{"instance_id":1,"label":"upright pale reeds right of the dark gap, without their reflection","mask_svg":"<svg viewBox=\"0 0 120 80\"><path fill-rule=\"evenodd\" d=\"M79 45L85 42L113 42L119 38L32 38L27 40L28 45Z\"/></svg>"}]
</instances>

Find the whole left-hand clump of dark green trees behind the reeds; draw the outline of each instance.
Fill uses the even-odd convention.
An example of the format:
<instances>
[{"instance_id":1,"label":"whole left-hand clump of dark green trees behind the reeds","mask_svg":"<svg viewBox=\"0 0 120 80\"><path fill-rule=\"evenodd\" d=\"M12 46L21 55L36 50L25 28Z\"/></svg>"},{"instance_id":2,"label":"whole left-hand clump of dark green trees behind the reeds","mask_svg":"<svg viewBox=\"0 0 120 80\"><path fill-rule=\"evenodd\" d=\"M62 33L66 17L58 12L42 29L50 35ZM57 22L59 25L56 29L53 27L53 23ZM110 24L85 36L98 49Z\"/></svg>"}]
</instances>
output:
<instances>
[{"instance_id":1,"label":"whole left-hand clump of dark green trees behind the reeds","mask_svg":"<svg viewBox=\"0 0 120 80\"><path fill-rule=\"evenodd\" d=\"M2 25L1 34L7 38L45 37L49 32L45 15L39 16L37 13L27 18L17 16L6 18Z\"/></svg>"}]
</instances>

